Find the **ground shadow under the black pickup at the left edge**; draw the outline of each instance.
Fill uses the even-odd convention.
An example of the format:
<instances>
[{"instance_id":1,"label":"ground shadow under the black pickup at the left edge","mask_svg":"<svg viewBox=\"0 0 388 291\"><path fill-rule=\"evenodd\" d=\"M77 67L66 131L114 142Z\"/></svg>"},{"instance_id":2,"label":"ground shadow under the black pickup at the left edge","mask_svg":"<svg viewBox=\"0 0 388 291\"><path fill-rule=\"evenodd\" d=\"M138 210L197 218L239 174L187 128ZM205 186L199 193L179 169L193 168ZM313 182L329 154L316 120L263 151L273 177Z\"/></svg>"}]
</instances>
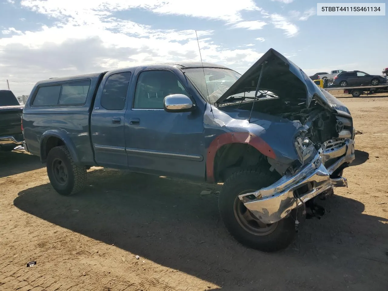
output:
<instances>
[{"instance_id":1,"label":"ground shadow under the black pickup at the left edge","mask_svg":"<svg viewBox=\"0 0 388 291\"><path fill-rule=\"evenodd\" d=\"M43 168L40 158L23 150L0 151L0 178Z\"/></svg>"}]
</instances>

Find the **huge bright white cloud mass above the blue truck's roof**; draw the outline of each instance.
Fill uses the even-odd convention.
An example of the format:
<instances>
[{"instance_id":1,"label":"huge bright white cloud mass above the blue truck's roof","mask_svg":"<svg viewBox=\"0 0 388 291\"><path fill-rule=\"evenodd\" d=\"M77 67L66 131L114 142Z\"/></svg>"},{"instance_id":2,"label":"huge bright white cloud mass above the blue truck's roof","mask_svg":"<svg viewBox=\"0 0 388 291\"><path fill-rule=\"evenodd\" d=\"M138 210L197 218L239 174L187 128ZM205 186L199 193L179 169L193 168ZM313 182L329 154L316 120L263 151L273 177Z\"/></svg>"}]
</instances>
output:
<instances>
[{"instance_id":1,"label":"huge bright white cloud mass above the blue truck's roof","mask_svg":"<svg viewBox=\"0 0 388 291\"><path fill-rule=\"evenodd\" d=\"M43 25L36 31L3 30L0 64L6 69L1 70L0 79L37 81L155 62L199 61L194 30L157 29L113 17L116 11L137 8L156 14L220 20L230 27L245 29L261 29L265 25L263 21L244 21L241 16L244 11L261 11L253 0L227 5L221 0L197 0L190 9L186 4L178 0L22 0L24 9L44 14L55 24ZM213 33L211 29L197 31L203 61L243 73L263 55L253 43L237 49L215 43Z\"/></svg>"}]
</instances>

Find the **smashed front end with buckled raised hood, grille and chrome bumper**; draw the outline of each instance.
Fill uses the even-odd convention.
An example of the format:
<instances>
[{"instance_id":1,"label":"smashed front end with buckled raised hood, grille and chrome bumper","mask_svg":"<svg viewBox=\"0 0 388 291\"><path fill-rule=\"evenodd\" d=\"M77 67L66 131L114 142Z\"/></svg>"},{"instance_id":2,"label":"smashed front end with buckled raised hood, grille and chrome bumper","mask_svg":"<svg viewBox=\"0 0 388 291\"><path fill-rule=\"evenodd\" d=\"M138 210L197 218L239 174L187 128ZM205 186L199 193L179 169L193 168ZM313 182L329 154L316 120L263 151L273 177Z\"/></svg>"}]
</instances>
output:
<instances>
[{"instance_id":1,"label":"smashed front end with buckled raised hood, grille and chrome bumper","mask_svg":"<svg viewBox=\"0 0 388 291\"><path fill-rule=\"evenodd\" d=\"M257 105L255 95L252 105L244 103L246 92L255 90L256 95L260 90L263 94L273 92L278 98L259 100ZM342 171L355 158L355 131L344 104L317 87L300 68L272 49L216 104L222 107L236 98L233 96L240 95L243 97L237 109L278 116L282 118L281 123L291 121L297 129L292 142L286 132L274 133L271 126L260 133L263 139L271 141L276 153L276 158L267 157L270 170L282 177L268 187L238 196L255 217L263 223L275 223L314 197L325 195L334 187L347 187Z\"/></svg>"}]
</instances>

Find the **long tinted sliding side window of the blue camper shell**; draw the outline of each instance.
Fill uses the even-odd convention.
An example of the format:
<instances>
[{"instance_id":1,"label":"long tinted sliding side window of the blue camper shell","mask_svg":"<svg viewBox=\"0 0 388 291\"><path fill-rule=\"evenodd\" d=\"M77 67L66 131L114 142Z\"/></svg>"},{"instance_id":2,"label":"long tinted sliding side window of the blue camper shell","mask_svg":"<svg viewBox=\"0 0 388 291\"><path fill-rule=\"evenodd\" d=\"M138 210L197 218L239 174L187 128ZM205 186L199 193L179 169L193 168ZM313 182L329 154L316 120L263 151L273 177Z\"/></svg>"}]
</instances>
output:
<instances>
[{"instance_id":1,"label":"long tinted sliding side window of the blue camper shell","mask_svg":"<svg viewBox=\"0 0 388 291\"><path fill-rule=\"evenodd\" d=\"M89 88L89 80L39 87L32 104L35 106L83 105Z\"/></svg>"}]
</instances>

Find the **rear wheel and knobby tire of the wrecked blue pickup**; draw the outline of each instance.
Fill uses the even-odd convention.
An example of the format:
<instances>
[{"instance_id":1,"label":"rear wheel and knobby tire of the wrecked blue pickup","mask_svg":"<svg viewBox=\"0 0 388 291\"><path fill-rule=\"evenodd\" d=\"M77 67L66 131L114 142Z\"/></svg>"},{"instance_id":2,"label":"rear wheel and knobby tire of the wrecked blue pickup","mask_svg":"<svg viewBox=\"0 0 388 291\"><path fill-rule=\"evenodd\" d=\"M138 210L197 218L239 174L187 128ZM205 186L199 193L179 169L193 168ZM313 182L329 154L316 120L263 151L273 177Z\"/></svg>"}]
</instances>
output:
<instances>
[{"instance_id":1,"label":"rear wheel and knobby tire of the wrecked blue pickup","mask_svg":"<svg viewBox=\"0 0 388 291\"><path fill-rule=\"evenodd\" d=\"M66 146L53 147L47 155L47 175L52 187L61 195L81 191L86 182L86 168L78 166Z\"/></svg>"}]
</instances>

